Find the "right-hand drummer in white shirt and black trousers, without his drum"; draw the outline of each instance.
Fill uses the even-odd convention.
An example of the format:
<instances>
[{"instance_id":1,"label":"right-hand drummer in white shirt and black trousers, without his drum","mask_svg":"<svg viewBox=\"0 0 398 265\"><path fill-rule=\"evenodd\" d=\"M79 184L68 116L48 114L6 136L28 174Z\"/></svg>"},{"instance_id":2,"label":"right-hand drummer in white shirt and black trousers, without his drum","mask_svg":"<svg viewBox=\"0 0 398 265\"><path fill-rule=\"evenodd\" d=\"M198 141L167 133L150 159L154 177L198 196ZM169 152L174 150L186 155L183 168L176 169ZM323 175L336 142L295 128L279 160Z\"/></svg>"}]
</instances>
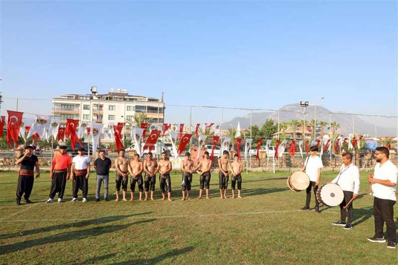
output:
<instances>
[{"instance_id":1,"label":"right-hand drummer in white shirt and black trousers, without his drum","mask_svg":"<svg viewBox=\"0 0 398 265\"><path fill-rule=\"evenodd\" d=\"M356 199L358 197L359 192L359 169L356 165L352 163L352 154L351 153L343 153L341 155L343 160L343 164L340 167L340 173L337 177L330 181L329 183L337 184L343 190L344 199L340 203L340 220L334 222L333 225L341 225L344 226L344 229L351 229L352 228L352 203L347 207L348 209L348 216L347 216L347 209L344 206L349 203L351 199ZM347 222L345 221L347 217Z\"/></svg>"}]
</instances>

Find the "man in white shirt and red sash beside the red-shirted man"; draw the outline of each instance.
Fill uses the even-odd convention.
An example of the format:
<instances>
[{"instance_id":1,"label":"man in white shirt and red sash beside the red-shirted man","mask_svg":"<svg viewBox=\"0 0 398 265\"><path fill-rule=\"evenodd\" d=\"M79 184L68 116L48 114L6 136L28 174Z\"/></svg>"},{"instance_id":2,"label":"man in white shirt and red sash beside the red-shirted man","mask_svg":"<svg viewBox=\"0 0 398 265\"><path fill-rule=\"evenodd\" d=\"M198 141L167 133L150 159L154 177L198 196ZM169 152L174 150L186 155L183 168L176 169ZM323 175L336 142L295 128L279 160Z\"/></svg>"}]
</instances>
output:
<instances>
[{"instance_id":1,"label":"man in white shirt and red sash beside the red-shirted man","mask_svg":"<svg viewBox=\"0 0 398 265\"><path fill-rule=\"evenodd\" d=\"M78 201L79 189L83 192L83 202L87 202L90 176L90 158L84 154L84 148L79 148L78 155L72 159L72 192L71 202Z\"/></svg>"}]
</instances>

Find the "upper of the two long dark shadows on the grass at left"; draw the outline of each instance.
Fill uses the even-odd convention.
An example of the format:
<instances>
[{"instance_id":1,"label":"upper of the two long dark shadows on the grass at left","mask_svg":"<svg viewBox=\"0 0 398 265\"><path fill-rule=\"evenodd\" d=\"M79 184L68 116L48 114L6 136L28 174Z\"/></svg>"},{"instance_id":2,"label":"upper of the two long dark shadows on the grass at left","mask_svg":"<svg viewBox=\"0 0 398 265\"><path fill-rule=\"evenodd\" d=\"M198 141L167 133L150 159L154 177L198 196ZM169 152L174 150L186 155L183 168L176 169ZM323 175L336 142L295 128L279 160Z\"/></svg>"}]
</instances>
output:
<instances>
[{"instance_id":1,"label":"upper of the two long dark shadows on the grass at left","mask_svg":"<svg viewBox=\"0 0 398 265\"><path fill-rule=\"evenodd\" d=\"M74 223L47 226L47 227L43 227L43 228L36 228L36 229L31 229L31 230L20 231L17 233L0 235L0 239L21 236L21 233L22 233L22 235L32 235L32 234L43 233L43 232L54 231L54 230L61 230L61 229L66 229L66 228L71 228L71 227L83 227L83 226L87 226L87 225L91 225L91 224L104 224L104 223L108 223L108 222L122 220L124 218L128 218L128 217L131 217L134 215L145 215L145 214L150 214L150 213L152 213L152 212L142 212L142 213L136 213L136 214L130 214L130 215L107 216L107 217L100 217L100 218L96 218L96 219L92 219L92 220L84 220L84 221L76 222L76 223L74 222Z\"/></svg>"}]
</instances>

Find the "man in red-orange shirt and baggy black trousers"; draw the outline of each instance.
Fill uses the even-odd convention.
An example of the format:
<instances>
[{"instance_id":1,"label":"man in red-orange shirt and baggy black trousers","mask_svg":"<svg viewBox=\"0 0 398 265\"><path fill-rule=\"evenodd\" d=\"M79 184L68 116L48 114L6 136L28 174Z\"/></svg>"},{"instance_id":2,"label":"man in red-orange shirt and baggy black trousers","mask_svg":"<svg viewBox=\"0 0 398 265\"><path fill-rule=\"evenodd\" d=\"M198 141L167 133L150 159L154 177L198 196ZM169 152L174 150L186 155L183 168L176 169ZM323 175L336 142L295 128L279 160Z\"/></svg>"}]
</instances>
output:
<instances>
[{"instance_id":1,"label":"man in red-orange shirt and baggy black trousers","mask_svg":"<svg viewBox=\"0 0 398 265\"><path fill-rule=\"evenodd\" d=\"M60 146L60 153L54 156L51 165L51 189L47 203L54 202L54 196L58 193L58 202L63 201L66 181L69 179L72 159L66 154L66 146Z\"/></svg>"}]
</instances>

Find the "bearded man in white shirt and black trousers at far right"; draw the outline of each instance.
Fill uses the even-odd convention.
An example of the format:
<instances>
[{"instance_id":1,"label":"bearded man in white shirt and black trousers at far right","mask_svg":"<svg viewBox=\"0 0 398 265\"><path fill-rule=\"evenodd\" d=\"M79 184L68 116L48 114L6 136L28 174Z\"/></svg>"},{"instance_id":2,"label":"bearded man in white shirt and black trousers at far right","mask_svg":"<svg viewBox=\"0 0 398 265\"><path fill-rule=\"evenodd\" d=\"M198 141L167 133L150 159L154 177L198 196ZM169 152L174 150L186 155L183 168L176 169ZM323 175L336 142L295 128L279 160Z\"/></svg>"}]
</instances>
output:
<instances>
[{"instance_id":1,"label":"bearded man in white shirt and black trousers at far right","mask_svg":"<svg viewBox=\"0 0 398 265\"><path fill-rule=\"evenodd\" d=\"M397 230L394 223L394 204L397 202L397 167L389 159L390 151L386 147L376 148L375 175L369 173L368 180L373 192L373 216L375 217L375 235L368 238L371 242L385 243L384 222L387 226L387 248L397 246Z\"/></svg>"}]
</instances>

